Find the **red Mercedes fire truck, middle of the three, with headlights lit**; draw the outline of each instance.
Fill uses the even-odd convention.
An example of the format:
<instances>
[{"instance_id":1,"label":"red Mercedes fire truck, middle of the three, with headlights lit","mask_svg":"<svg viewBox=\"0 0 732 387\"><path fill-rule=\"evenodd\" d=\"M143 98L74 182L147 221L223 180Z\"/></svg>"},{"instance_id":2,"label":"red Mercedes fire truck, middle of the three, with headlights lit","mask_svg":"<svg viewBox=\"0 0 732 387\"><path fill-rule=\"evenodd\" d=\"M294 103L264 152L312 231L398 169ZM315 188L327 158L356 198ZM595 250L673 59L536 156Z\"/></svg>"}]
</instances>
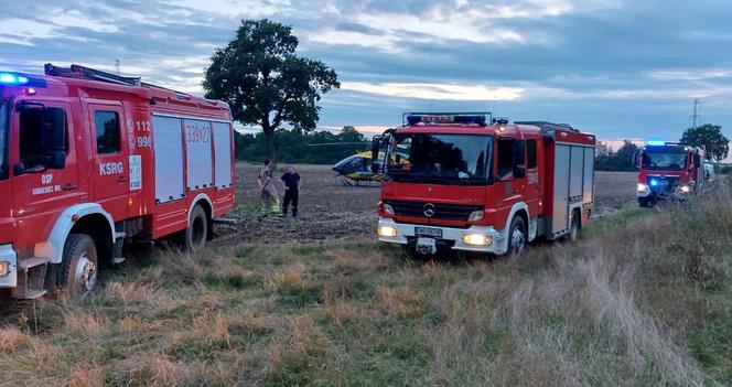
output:
<instances>
[{"instance_id":1,"label":"red Mercedes fire truck, middle of the three, with headlights lit","mask_svg":"<svg viewBox=\"0 0 732 387\"><path fill-rule=\"evenodd\" d=\"M420 256L575 239L592 212L594 144L562 123L406 114L374 140L385 153L378 239Z\"/></svg>"}]
</instances>

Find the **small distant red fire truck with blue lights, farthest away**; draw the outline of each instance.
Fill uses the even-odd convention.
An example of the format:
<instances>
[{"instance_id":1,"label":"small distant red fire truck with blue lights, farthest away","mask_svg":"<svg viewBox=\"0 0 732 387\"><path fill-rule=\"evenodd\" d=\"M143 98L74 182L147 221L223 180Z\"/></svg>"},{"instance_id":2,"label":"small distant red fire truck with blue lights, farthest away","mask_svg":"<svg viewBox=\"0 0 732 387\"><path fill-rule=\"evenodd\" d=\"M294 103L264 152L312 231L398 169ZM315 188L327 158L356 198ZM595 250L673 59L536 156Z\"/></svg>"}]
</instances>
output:
<instances>
[{"instance_id":1,"label":"small distant red fire truck with blue lights, farthest away","mask_svg":"<svg viewBox=\"0 0 732 387\"><path fill-rule=\"evenodd\" d=\"M713 169L703 162L703 151L679 142L648 141L636 155L638 205L649 207L667 198L700 194Z\"/></svg>"}]
</instances>

